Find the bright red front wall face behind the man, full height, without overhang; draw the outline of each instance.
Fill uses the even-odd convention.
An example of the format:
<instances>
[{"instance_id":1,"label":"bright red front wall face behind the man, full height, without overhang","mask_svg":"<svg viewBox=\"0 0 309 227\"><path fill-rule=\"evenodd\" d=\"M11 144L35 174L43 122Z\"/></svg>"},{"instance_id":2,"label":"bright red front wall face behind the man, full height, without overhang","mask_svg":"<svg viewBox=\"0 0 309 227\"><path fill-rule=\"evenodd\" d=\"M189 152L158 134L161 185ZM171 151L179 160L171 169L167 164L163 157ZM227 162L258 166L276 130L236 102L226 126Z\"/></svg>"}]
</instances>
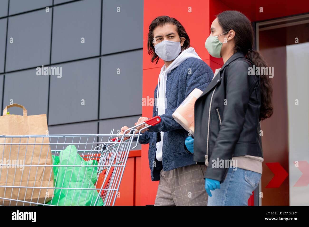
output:
<instances>
[{"instance_id":1,"label":"bright red front wall face behind the man, full height, without overhang","mask_svg":"<svg viewBox=\"0 0 309 227\"><path fill-rule=\"evenodd\" d=\"M191 8L189 8L191 7ZM191 12L189 12L191 9ZM144 31L143 31L143 98L154 97L155 86L163 61L157 65L151 63L147 53L147 35L149 24L157 16L168 15L182 23L186 29L191 46L204 61L209 61L209 53L204 47L205 40L209 36L209 0L184 1L184 0L158 0L144 1ZM152 116L153 107L142 107L142 115ZM148 145L142 145L141 157L141 205L150 205L155 202L158 183L152 182L148 161Z\"/></svg>"}]
</instances>

